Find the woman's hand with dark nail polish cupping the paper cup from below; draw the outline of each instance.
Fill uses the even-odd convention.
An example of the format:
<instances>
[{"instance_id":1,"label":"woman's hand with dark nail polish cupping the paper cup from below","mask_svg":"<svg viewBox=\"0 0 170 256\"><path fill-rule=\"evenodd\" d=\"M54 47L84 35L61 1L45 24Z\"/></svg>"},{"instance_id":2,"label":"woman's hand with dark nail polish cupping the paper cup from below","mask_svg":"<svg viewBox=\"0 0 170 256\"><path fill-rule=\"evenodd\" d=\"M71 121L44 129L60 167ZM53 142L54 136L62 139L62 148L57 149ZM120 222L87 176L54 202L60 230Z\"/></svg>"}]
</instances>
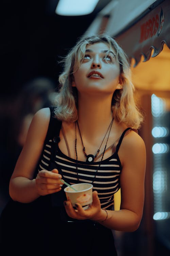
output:
<instances>
[{"instance_id":1,"label":"woman's hand with dark nail polish cupping the paper cup from below","mask_svg":"<svg viewBox=\"0 0 170 256\"><path fill-rule=\"evenodd\" d=\"M76 204L76 209L72 207L70 201L65 201L64 206L69 217L74 219L91 219L93 221L103 220L103 211L101 209L100 200L97 191L93 191L93 201L87 210L84 210L80 203Z\"/></svg>"}]
</instances>

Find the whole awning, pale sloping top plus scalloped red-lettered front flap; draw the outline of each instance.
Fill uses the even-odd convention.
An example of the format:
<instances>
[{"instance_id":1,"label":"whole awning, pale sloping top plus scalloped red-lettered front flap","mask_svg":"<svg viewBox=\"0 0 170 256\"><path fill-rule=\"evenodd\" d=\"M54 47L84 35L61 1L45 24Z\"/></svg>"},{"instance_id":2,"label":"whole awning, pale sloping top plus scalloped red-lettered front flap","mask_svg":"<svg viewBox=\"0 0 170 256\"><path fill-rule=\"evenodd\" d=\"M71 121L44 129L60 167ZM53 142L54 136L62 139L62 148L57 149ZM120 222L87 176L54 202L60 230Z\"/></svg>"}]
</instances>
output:
<instances>
[{"instance_id":1,"label":"whole awning, pale sloping top plus scalloped red-lettered front flap","mask_svg":"<svg viewBox=\"0 0 170 256\"><path fill-rule=\"evenodd\" d=\"M112 1L98 14L85 34L107 31L118 41L128 57L135 59L135 67L142 55L143 61L149 60L153 49L152 57L162 51L164 44L170 49L170 0L131 0L126 5L127 1Z\"/></svg>"}]
</instances>

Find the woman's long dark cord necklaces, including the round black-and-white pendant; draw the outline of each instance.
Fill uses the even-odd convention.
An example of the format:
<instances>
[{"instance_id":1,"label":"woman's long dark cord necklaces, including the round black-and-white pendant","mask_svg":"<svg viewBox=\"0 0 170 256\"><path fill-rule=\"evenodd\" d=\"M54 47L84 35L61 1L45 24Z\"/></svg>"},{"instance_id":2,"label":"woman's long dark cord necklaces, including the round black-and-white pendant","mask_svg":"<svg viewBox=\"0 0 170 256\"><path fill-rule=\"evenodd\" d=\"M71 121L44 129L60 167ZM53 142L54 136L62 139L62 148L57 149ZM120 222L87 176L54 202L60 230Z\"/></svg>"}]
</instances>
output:
<instances>
[{"instance_id":1,"label":"woman's long dark cord necklaces, including the round black-and-white pendant","mask_svg":"<svg viewBox=\"0 0 170 256\"><path fill-rule=\"evenodd\" d=\"M113 120L114 120L114 118L112 119L112 121L111 121L111 123L110 123L110 125L109 125L110 129L109 129L109 127L108 127L109 133L108 133L107 141L108 141L108 138L109 138L109 134L110 134L110 132L111 132ZM78 176L78 154L77 154L76 123L78 124L78 122L77 122L77 121L75 122L75 154L76 154L76 170L77 170L77 177L78 177L77 179L78 179L78 181L79 181L79 176ZM78 127L79 127L79 125L78 125ZM108 131L108 129L107 129L107 131ZM80 129L79 129L79 132L80 132ZM107 132L106 132L106 134L107 134ZM105 134L104 138L106 137L106 134ZM81 133L80 133L80 137L81 137ZM82 140L82 137L81 137L81 140ZM104 140L104 139L103 139L103 140ZM100 167L100 165L101 165L101 162L102 162L102 160L103 160L104 153L105 153L106 146L107 146L107 141L106 141L106 144L105 144L105 147L104 147L104 151L103 151L103 154L102 154L102 158L101 158L100 163L99 163L99 165L98 165L98 167L97 167L96 173L98 172L98 169L99 169L99 167ZM102 143L103 143L103 141L102 141ZM101 145L102 145L102 143L101 143ZM82 144L83 144L83 141L82 141ZM101 145L100 145L100 147L101 147ZM84 148L85 148L85 147L84 147L84 145L83 145L83 151L85 152ZM94 155L91 155L91 154L90 154L90 155L87 155L87 156L86 156L86 157L87 157L86 162L92 162L92 161L94 161L94 158L97 157L99 151L100 151L100 148L98 149L98 151L97 151L97 153L96 153L95 156L94 156ZM92 159L89 159L90 157L92 157ZM91 160L91 161L90 161L90 160ZM94 180L92 181L92 183L95 181L95 179L96 179L96 174L95 174L95 176L94 176Z\"/></svg>"}]
</instances>

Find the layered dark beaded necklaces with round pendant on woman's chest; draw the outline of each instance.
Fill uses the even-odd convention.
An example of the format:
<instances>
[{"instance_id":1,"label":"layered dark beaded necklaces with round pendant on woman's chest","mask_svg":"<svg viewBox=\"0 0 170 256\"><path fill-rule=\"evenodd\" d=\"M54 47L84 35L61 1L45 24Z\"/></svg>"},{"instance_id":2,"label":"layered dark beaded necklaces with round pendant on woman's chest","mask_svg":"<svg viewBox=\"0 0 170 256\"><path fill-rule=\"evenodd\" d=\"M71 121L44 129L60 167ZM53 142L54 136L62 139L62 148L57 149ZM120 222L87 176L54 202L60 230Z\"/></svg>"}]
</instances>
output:
<instances>
[{"instance_id":1,"label":"layered dark beaded necklaces with round pendant on woman's chest","mask_svg":"<svg viewBox=\"0 0 170 256\"><path fill-rule=\"evenodd\" d=\"M108 141L109 134L110 134L110 132L111 132L111 128L112 128L112 124L113 124L113 120L114 120L114 118L112 118L112 121L111 121L111 123L109 124L109 127L107 128L107 131L106 131L105 136L104 136L104 138L103 138L103 140L102 140L102 143L103 143L103 141L104 141L104 139L105 139L105 137L106 137L106 134L107 134L107 132L108 132L108 130L109 130L109 133L108 133L108 136L107 136L107 141ZM102 143L101 143L99 149L97 150L96 155L92 155L92 154L87 155L85 146L84 146L84 144L83 144L83 140L82 140L82 136L81 136L81 132L80 132L80 127L79 127L78 121L75 122L75 154L76 154L76 170L77 170L77 177L78 177L77 129L76 129L76 128L77 128L77 125L78 125L78 129L79 129L79 133L80 133L80 137L81 137L81 141L82 141L83 152L84 152L84 154L85 154L85 156L86 156L86 162L93 162L93 161L94 161L94 159L97 157L97 155L98 155L99 152L100 152L100 148L101 148ZM110 128L110 129L109 129L109 128ZM102 162L102 160L103 160L104 153L105 153L106 146L107 146L107 141L106 141L106 144L105 144L105 147L104 147L104 151L103 151L103 154L102 154L102 157L101 157L99 166L97 167L96 173L97 173L97 171L98 171L98 169L99 169L99 167L100 167L100 165L101 165L101 162ZM94 177L94 180L95 180L95 178L96 178L96 175L95 175L95 177ZM79 177L78 177L78 180L79 180ZM94 180L93 180L93 182L94 182Z\"/></svg>"}]
</instances>

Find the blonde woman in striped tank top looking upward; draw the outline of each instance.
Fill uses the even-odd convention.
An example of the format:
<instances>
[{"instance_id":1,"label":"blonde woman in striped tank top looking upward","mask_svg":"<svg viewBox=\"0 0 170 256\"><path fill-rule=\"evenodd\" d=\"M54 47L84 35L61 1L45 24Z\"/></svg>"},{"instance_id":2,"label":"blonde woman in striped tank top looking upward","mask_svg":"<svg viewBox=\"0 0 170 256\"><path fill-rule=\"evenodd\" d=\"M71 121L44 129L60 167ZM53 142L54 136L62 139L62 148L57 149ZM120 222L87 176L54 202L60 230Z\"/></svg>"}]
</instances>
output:
<instances>
[{"instance_id":1,"label":"blonde woman in striped tank top looking upward","mask_svg":"<svg viewBox=\"0 0 170 256\"><path fill-rule=\"evenodd\" d=\"M41 200L22 250L34 241L39 255L59 247L62 255L117 255L112 230L136 230L144 202L146 151L136 132L142 116L128 59L107 34L82 37L64 59L59 82L56 108L35 114L10 181L14 201ZM93 184L87 210L66 200L61 179ZM119 188L121 206L114 211Z\"/></svg>"}]
</instances>

